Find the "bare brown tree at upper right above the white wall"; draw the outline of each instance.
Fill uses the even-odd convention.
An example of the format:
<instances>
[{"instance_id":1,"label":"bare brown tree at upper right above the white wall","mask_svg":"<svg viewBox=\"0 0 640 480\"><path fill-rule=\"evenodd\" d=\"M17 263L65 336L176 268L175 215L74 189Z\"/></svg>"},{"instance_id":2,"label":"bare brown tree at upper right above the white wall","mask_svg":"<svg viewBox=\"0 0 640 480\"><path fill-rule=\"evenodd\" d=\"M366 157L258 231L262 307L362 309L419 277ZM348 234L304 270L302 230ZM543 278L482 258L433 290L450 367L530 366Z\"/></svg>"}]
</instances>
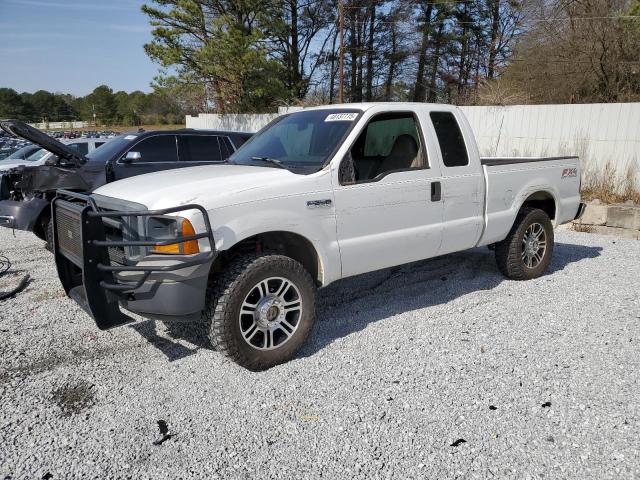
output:
<instances>
[{"instance_id":1,"label":"bare brown tree at upper right above the white wall","mask_svg":"<svg viewBox=\"0 0 640 480\"><path fill-rule=\"evenodd\" d=\"M524 96L529 103L640 99L638 22L623 0L557 1L522 39L512 65L482 98ZM505 93L502 93L504 91Z\"/></svg>"}]
</instances>

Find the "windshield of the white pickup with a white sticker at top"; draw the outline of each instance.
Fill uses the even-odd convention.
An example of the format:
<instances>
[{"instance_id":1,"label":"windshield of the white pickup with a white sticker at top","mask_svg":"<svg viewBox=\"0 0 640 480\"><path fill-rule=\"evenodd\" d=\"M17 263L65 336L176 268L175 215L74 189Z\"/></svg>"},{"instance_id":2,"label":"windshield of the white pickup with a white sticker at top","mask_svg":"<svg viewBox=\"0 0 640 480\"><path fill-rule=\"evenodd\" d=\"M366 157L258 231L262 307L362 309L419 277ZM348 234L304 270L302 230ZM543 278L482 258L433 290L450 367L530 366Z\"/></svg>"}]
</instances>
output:
<instances>
[{"instance_id":1,"label":"windshield of the white pickup with a white sticker at top","mask_svg":"<svg viewBox=\"0 0 640 480\"><path fill-rule=\"evenodd\" d=\"M359 113L359 110L323 109L278 117L240 147L229 163L286 168L302 174L317 172Z\"/></svg>"}]
</instances>

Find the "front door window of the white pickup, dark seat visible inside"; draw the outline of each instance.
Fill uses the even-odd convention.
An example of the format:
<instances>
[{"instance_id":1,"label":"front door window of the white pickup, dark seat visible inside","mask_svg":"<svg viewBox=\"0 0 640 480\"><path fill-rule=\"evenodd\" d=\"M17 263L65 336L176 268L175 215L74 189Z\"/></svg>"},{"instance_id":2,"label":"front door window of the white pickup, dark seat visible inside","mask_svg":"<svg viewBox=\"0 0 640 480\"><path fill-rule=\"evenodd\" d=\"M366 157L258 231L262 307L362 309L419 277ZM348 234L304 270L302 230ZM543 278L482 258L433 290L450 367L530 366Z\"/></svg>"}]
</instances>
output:
<instances>
[{"instance_id":1,"label":"front door window of the white pickup, dark seat visible inside","mask_svg":"<svg viewBox=\"0 0 640 480\"><path fill-rule=\"evenodd\" d=\"M375 116L351 147L355 178L342 183L373 180L393 171L425 168L420 148L420 135L411 113Z\"/></svg>"}]
</instances>

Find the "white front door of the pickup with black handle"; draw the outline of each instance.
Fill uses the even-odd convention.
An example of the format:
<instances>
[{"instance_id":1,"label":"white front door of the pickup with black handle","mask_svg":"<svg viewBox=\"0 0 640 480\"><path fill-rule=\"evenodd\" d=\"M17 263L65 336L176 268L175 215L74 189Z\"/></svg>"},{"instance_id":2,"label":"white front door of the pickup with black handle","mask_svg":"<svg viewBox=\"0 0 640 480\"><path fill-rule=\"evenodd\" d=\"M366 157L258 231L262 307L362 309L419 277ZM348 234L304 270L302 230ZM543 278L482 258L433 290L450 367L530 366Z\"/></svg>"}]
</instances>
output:
<instances>
[{"instance_id":1,"label":"white front door of the pickup with black handle","mask_svg":"<svg viewBox=\"0 0 640 480\"><path fill-rule=\"evenodd\" d=\"M437 254L440 173L424 145L415 114L384 113L342 160L334 198L343 277Z\"/></svg>"}]
</instances>

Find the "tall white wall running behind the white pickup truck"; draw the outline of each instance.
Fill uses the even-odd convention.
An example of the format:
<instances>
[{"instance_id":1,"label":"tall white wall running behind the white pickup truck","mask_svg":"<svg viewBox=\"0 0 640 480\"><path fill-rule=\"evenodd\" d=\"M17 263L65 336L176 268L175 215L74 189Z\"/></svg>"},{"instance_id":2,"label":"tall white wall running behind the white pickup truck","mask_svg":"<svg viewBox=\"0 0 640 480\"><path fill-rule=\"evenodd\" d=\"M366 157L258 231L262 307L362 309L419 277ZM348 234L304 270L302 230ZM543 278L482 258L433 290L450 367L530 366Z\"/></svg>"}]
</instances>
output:
<instances>
[{"instance_id":1,"label":"tall white wall running behind the white pickup truck","mask_svg":"<svg viewBox=\"0 0 640 480\"><path fill-rule=\"evenodd\" d=\"M586 173L611 162L620 179L635 165L640 185L640 103L461 108L483 156L579 155ZM257 131L276 116L200 114L187 127Z\"/></svg>"}]
</instances>

